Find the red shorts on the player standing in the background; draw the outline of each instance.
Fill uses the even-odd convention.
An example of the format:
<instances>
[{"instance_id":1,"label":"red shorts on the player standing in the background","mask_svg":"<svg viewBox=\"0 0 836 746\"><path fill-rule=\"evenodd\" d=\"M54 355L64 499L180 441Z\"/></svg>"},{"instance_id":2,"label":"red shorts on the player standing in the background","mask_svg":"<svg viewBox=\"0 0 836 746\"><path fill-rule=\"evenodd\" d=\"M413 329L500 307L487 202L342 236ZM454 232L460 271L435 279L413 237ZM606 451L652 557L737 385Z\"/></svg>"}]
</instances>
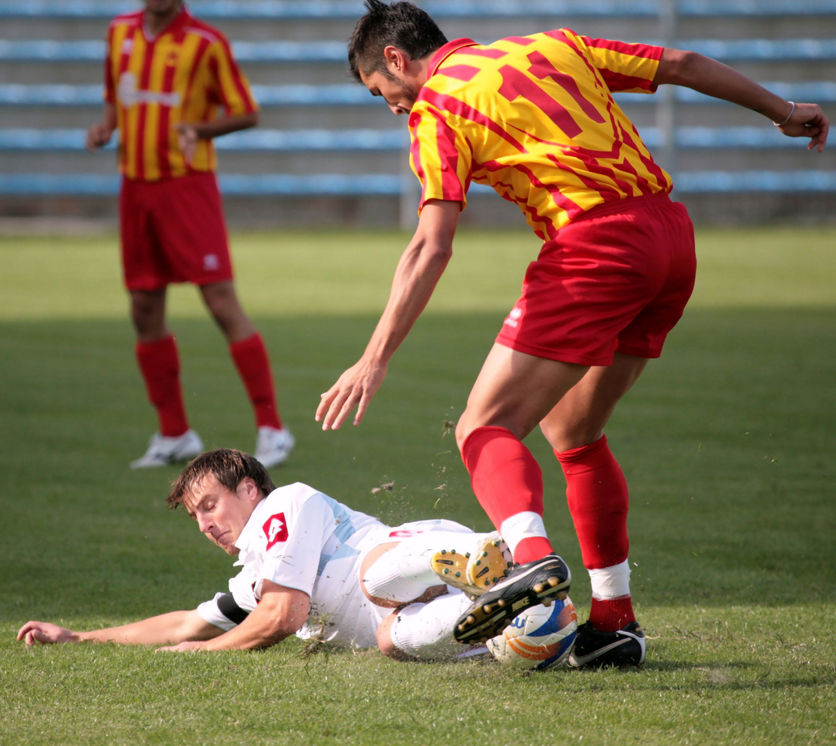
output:
<instances>
[{"instance_id":1,"label":"red shorts on the player standing in the background","mask_svg":"<svg viewBox=\"0 0 836 746\"><path fill-rule=\"evenodd\" d=\"M212 173L122 180L122 268L128 290L232 280L221 194Z\"/></svg>"}]
</instances>

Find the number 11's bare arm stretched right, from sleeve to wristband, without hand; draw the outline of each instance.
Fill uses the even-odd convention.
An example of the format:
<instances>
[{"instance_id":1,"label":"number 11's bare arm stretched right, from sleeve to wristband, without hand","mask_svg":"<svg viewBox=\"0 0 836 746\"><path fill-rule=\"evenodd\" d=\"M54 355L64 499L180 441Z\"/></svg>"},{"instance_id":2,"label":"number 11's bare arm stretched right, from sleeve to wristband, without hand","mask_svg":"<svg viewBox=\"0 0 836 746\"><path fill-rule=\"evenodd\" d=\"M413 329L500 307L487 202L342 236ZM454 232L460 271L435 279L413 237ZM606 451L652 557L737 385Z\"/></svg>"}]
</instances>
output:
<instances>
[{"instance_id":1,"label":"number 11's bare arm stretched right, from sleeve to wristband, without hand","mask_svg":"<svg viewBox=\"0 0 836 746\"><path fill-rule=\"evenodd\" d=\"M731 101L773 122L785 119L792 105L736 69L681 49L665 48L654 83L682 85L715 99Z\"/></svg>"}]
</instances>

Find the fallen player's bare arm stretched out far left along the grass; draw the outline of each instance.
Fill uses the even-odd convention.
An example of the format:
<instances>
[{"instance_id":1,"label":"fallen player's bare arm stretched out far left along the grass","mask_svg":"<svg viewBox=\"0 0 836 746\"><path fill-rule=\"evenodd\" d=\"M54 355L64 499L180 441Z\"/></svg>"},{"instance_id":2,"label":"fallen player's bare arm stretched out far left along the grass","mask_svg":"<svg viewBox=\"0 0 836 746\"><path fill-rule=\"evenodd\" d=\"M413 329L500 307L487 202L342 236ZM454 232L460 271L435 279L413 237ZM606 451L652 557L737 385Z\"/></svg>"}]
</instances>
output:
<instances>
[{"instance_id":1,"label":"fallen player's bare arm stretched out far left along the grass","mask_svg":"<svg viewBox=\"0 0 836 746\"><path fill-rule=\"evenodd\" d=\"M27 645L56 642L117 642L120 645L169 645L186 640L210 640L223 633L196 611L169 612L157 617L92 632L73 632L48 622L27 622L18 640Z\"/></svg>"}]
</instances>

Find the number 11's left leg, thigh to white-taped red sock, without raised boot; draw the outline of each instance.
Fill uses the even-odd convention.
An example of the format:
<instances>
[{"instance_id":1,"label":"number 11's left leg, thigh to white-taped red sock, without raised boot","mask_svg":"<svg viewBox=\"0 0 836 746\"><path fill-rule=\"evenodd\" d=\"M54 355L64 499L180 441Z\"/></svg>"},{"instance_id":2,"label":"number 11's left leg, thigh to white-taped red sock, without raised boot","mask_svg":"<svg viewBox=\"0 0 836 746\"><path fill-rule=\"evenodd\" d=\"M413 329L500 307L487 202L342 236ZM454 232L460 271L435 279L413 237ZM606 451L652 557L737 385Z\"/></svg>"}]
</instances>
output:
<instances>
[{"instance_id":1,"label":"number 11's left leg, thigh to white-taped red sock, without raised boot","mask_svg":"<svg viewBox=\"0 0 836 746\"><path fill-rule=\"evenodd\" d=\"M514 561L552 551L543 527L543 475L522 439L588 369L495 344L456 426L473 492Z\"/></svg>"}]
</instances>

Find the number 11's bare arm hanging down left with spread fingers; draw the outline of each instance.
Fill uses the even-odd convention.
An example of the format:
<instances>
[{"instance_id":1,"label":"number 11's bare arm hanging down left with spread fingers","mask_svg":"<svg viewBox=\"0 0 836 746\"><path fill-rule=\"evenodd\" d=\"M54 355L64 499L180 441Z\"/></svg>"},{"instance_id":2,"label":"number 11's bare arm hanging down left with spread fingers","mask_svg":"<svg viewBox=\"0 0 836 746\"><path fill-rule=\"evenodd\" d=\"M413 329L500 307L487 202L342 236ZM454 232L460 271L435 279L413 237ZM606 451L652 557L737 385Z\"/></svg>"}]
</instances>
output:
<instances>
[{"instance_id":1,"label":"number 11's bare arm hanging down left with spread fingers","mask_svg":"<svg viewBox=\"0 0 836 746\"><path fill-rule=\"evenodd\" d=\"M322 429L338 429L355 405L354 424L363 419L383 383L390 358L430 302L450 261L460 211L460 202L427 200L415 236L400 257L389 302L363 357L322 395L316 411L316 421L323 421Z\"/></svg>"}]
</instances>

